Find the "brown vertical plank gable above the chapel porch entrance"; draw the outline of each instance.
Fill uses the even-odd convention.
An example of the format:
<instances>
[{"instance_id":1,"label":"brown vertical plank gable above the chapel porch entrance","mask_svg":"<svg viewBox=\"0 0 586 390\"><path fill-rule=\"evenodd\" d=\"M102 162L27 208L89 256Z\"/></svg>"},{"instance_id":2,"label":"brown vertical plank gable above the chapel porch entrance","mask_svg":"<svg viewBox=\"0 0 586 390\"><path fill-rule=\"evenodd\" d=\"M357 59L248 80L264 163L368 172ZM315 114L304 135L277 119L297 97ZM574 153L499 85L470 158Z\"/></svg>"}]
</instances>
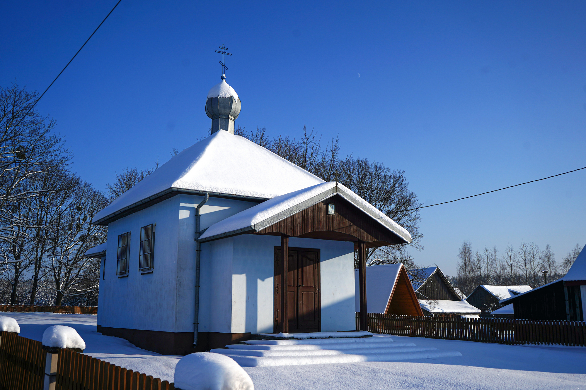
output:
<instances>
[{"instance_id":1,"label":"brown vertical plank gable above the chapel porch entrance","mask_svg":"<svg viewBox=\"0 0 586 390\"><path fill-rule=\"evenodd\" d=\"M335 215L328 214L329 203L336 205ZM364 241L371 245L376 244L376 246L404 242L403 238L389 231L373 217L339 195L305 208L305 210L258 231L257 234L287 234L291 237L322 240Z\"/></svg>"}]
</instances>

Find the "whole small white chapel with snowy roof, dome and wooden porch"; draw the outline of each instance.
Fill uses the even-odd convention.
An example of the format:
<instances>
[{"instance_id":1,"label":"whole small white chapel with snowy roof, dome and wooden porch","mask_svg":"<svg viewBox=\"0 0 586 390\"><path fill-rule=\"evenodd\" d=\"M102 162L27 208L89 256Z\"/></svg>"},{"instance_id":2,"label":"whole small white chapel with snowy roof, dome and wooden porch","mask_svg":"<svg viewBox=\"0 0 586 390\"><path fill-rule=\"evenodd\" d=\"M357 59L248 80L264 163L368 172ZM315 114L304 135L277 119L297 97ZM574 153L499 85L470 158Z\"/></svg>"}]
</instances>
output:
<instances>
[{"instance_id":1,"label":"whole small white chapel with snowy roof, dome and wooden porch","mask_svg":"<svg viewBox=\"0 0 586 390\"><path fill-rule=\"evenodd\" d=\"M94 217L108 227L86 253L101 258L98 332L188 354L256 333L356 330L366 248L410 234L342 184L234 135L240 110L222 76L206 100L212 134Z\"/></svg>"}]
</instances>

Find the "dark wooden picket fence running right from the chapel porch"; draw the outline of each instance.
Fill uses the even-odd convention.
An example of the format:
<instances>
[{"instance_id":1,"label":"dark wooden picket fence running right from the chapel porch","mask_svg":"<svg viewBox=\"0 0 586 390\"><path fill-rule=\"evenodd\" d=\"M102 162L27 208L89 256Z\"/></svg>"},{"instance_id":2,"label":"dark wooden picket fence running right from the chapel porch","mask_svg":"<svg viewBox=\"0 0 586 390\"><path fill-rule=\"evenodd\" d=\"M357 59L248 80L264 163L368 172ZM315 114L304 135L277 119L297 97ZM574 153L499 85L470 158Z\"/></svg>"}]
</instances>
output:
<instances>
[{"instance_id":1,"label":"dark wooden picket fence running right from the chapel porch","mask_svg":"<svg viewBox=\"0 0 586 390\"><path fill-rule=\"evenodd\" d=\"M367 313L368 330L397 336L444 338L500 344L586 344L584 321L535 321L502 318L415 317ZM360 313L356 313L359 329Z\"/></svg>"}]
</instances>

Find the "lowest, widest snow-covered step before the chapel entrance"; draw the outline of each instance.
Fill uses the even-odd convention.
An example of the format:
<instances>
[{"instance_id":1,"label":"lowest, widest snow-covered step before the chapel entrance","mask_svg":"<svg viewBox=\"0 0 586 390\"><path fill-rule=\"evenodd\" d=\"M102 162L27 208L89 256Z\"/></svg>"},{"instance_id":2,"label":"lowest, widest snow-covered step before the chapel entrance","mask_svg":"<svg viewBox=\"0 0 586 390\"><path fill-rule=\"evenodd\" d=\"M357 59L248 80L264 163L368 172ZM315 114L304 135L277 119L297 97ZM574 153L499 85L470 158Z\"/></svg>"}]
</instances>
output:
<instances>
[{"instance_id":1,"label":"lowest, widest snow-covered step before the chapel entrance","mask_svg":"<svg viewBox=\"0 0 586 390\"><path fill-rule=\"evenodd\" d=\"M462 356L458 351L418 351L381 354L343 354L343 355L318 355L318 356L240 356L227 355L233 358L241 367L274 366L274 365L300 365L300 364L330 364L330 363L356 363L364 361L395 361L408 359L425 359L440 357Z\"/></svg>"}]
</instances>

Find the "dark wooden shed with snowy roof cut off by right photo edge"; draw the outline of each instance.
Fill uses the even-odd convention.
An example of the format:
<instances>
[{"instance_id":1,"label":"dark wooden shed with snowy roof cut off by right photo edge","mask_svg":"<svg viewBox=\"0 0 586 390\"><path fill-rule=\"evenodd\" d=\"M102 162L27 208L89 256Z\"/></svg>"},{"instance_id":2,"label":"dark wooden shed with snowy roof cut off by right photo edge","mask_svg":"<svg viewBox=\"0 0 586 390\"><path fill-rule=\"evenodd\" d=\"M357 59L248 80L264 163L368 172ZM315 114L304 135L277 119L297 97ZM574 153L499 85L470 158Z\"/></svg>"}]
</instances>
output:
<instances>
[{"instance_id":1,"label":"dark wooden shed with snowy roof cut off by right photo edge","mask_svg":"<svg viewBox=\"0 0 586 390\"><path fill-rule=\"evenodd\" d=\"M503 299L513 305L516 319L584 321L586 319L586 251L561 279L525 293Z\"/></svg>"}]
</instances>

